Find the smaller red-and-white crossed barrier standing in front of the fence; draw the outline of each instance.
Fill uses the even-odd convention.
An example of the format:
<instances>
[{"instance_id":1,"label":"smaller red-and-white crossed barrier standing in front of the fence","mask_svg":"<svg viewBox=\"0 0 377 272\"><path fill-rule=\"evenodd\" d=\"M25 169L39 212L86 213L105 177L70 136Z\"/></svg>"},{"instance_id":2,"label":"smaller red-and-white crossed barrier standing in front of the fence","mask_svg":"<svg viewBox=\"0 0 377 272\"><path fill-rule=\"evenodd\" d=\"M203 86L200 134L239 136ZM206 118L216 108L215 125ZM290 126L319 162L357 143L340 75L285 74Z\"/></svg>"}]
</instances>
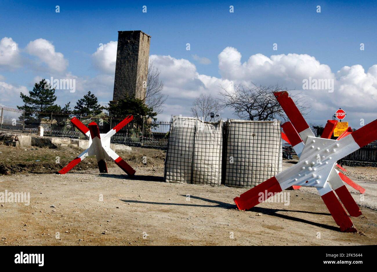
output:
<instances>
[{"instance_id":1,"label":"smaller red-and-white crossed barrier standing in front of the fence","mask_svg":"<svg viewBox=\"0 0 377 272\"><path fill-rule=\"evenodd\" d=\"M106 159L111 159L118 165L124 172L133 176L135 174L135 170L130 167L127 162L125 162L118 154L116 154L110 148L110 138L116 132L121 130L125 125L133 120L133 116L127 116L122 122L116 125L112 130L110 130L106 134L100 134L100 130L98 129L98 125L95 122L91 122L89 124L89 128L86 127L83 123L80 122L79 119L76 117L71 119L71 123L81 131L81 133L85 134L87 138L89 138L89 148L85 150L83 153L78 155L74 160L72 160L69 164L66 165L63 169L61 169L58 173L59 174L66 174L69 170L74 168L81 160L85 159L87 156L95 155L97 158L98 169L101 173L107 173L107 165Z\"/></svg>"}]
</instances>

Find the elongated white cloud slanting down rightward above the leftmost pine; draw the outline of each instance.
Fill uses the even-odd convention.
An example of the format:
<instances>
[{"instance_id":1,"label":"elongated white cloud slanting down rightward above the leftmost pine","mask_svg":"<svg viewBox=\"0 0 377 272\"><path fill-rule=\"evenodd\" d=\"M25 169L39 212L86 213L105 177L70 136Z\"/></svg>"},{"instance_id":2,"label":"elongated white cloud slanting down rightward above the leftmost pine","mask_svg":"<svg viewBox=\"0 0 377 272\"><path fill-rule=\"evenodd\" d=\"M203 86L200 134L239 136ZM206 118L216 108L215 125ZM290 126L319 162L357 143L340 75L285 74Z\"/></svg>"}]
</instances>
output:
<instances>
[{"instance_id":1,"label":"elongated white cloud slanting down rightward above the leftmost pine","mask_svg":"<svg viewBox=\"0 0 377 272\"><path fill-rule=\"evenodd\" d=\"M67 69L68 60L64 58L62 53L56 52L55 46L48 40L40 38L29 42L26 46L26 52L38 57L52 71L63 72Z\"/></svg>"}]
</instances>

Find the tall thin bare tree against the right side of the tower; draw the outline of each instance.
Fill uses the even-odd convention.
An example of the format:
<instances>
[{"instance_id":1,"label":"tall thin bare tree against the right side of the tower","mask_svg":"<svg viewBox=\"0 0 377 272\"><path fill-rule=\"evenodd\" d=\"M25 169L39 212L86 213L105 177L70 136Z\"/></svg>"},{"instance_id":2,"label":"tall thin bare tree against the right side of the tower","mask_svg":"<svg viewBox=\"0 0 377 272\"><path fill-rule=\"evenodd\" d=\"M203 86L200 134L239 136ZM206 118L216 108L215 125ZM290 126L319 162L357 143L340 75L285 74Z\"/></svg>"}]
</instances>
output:
<instances>
[{"instance_id":1,"label":"tall thin bare tree against the right side of the tower","mask_svg":"<svg viewBox=\"0 0 377 272\"><path fill-rule=\"evenodd\" d=\"M143 101L148 107L152 107L156 113L162 113L162 104L167 99L167 95L162 93L164 89L164 83L160 80L160 71L153 65L153 62L149 63L147 82L144 83L146 91Z\"/></svg>"}]
</instances>

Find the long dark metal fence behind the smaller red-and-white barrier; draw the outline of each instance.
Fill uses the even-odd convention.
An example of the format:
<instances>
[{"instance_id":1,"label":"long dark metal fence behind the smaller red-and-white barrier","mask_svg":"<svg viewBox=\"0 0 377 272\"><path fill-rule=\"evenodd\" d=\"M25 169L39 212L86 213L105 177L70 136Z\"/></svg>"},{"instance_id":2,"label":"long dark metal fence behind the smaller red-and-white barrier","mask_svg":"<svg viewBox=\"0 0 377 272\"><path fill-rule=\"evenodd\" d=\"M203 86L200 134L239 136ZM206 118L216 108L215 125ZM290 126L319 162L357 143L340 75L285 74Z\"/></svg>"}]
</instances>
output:
<instances>
[{"instance_id":1,"label":"long dark metal fence behind the smaller red-and-white barrier","mask_svg":"<svg viewBox=\"0 0 377 272\"><path fill-rule=\"evenodd\" d=\"M85 125L88 125L90 122L96 122L100 133L107 133L123 120L123 118L109 116L80 116L63 112L26 113L23 110L12 107L0 107L0 130L37 133L38 127L41 125L46 136L84 139L84 135L70 123L70 119L73 117L80 119ZM169 121L152 121L135 117L133 121L124 126L111 138L111 142L134 146L167 148L169 130Z\"/></svg>"}]
</instances>

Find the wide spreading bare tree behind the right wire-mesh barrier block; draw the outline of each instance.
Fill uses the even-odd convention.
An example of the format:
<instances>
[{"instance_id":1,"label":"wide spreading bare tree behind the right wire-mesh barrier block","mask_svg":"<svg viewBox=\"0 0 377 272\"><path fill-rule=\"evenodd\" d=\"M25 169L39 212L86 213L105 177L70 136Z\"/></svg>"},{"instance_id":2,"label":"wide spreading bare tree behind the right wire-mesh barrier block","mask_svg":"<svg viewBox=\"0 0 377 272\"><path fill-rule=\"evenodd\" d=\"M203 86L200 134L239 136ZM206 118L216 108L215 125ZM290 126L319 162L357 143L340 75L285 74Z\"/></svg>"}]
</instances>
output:
<instances>
[{"instance_id":1,"label":"wide spreading bare tree behind the right wire-mesh barrier block","mask_svg":"<svg viewBox=\"0 0 377 272\"><path fill-rule=\"evenodd\" d=\"M277 102L273 92L288 91L287 88L281 86L257 86L253 84L251 87L245 87L242 84L235 86L234 92L228 91L221 86L222 96L221 102L225 107L230 107L234 113L241 119L262 121L279 119L287 121L288 118L284 110ZM307 115L310 108L307 100L297 95L290 95L297 108L303 115Z\"/></svg>"}]
</instances>

